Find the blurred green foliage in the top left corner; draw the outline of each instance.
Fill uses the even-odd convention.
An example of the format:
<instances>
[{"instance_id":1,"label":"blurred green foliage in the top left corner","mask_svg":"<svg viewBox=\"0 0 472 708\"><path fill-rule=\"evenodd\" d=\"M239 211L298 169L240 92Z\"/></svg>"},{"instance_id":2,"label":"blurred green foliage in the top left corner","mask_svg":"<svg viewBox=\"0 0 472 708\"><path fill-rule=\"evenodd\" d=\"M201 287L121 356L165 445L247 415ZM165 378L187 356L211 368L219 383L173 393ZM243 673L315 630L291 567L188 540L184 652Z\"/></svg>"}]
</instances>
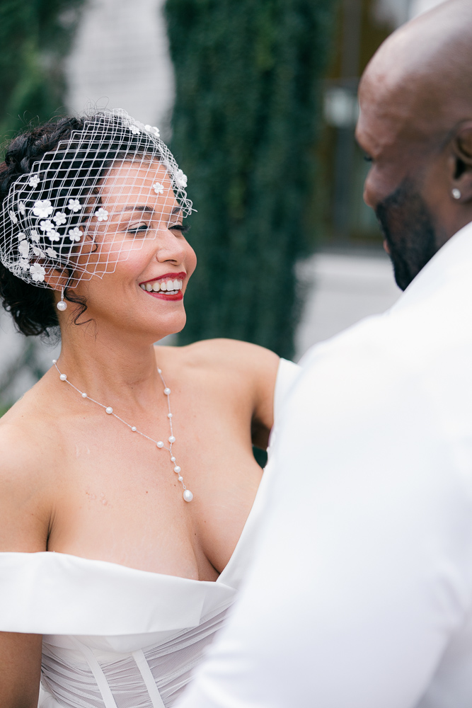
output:
<instances>
[{"instance_id":1,"label":"blurred green foliage in the top left corner","mask_svg":"<svg viewBox=\"0 0 472 708\"><path fill-rule=\"evenodd\" d=\"M84 0L1 0L0 140L64 111L63 58Z\"/></svg>"}]
</instances>

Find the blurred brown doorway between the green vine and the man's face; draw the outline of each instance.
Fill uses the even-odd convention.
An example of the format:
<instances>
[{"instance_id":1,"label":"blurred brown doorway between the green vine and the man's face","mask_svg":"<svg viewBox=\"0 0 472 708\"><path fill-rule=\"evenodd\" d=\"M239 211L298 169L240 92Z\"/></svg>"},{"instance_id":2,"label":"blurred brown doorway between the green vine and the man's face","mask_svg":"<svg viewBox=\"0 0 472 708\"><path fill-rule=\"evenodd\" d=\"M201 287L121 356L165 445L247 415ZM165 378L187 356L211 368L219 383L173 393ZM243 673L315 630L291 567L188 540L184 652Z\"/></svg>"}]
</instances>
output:
<instances>
[{"instance_id":1,"label":"blurred brown doorway between the green vine and the man's face","mask_svg":"<svg viewBox=\"0 0 472 708\"><path fill-rule=\"evenodd\" d=\"M316 202L324 249L381 249L376 218L362 199L369 164L355 142L359 77L393 30L442 1L340 1L319 147L324 187Z\"/></svg>"}]
</instances>

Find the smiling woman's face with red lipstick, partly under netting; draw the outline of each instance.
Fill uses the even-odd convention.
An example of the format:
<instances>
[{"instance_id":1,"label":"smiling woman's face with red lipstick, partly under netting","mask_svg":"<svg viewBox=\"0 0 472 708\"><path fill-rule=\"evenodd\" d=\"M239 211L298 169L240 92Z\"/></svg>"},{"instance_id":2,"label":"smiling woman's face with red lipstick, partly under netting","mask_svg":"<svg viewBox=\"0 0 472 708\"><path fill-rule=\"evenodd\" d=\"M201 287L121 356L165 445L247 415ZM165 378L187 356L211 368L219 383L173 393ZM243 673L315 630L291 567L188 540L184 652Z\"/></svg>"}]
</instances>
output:
<instances>
[{"instance_id":1,"label":"smiling woman's face with red lipstick, partly under netting","mask_svg":"<svg viewBox=\"0 0 472 708\"><path fill-rule=\"evenodd\" d=\"M197 259L166 168L143 161L111 169L88 222L79 263L103 278L74 287L87 301L79 321L93 319L98 329L107 323L152 341L180 331Z\"/></svg>"}]
</instances>

